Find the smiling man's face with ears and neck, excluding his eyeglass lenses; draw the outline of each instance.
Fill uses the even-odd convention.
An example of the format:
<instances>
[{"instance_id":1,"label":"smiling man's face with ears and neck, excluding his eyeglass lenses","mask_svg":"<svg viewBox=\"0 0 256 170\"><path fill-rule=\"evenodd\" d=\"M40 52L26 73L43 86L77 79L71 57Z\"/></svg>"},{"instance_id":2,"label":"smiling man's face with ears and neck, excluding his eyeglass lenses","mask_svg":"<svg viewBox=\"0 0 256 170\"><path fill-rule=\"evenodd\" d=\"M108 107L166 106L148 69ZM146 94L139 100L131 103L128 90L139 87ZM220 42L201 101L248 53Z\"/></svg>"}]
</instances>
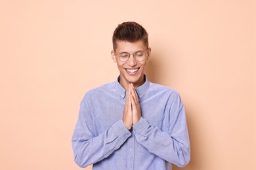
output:
<instances>
[{"instance_id":1,"label":"smiling man's face with ears and neck, excluding his eyeglass lenses","mask_svg":"<svg viewBox=\"0 0 256 170\"><path fill-rule=\"evenodd\" d=\"M124 53L135 54L144 53L142 61L137 61L135 56L130 55L127 61L120 61L120 55ZM135 88L144 83L144 69L146 62L150 57L151 49L144 45L142 40L136 42L116 41L116 50L112 51L112 59L117 63L120 72L120 84L123 88L128 87L128 84L133 83Z\"/></svg>"}]
</instances>

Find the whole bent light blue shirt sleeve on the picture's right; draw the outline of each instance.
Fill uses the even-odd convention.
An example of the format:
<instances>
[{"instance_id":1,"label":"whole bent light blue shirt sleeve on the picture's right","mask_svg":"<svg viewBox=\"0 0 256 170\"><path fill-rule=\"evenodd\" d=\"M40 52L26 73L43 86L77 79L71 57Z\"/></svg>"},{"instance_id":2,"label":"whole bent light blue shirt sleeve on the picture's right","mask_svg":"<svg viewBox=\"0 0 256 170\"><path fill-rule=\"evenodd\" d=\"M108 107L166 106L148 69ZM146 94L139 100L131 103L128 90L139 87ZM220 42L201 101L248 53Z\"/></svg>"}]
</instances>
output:
<instances>
[{"instance_id":1,"label":"whole bent light blue shirt sleeve on the picture's right","mask_svg":"<svg viewBox=\"0 0 256 170\"><path fill-rule=\"evenodd\" d=\"M171 107L168 131L161 131L159 127L152 126L144 118L140 118L139 122L133 125L133 131L137 141L149 152L179 167L184 167L190 161L185 110L179 95L169 105Z\"/></svg>"}]
</instances>

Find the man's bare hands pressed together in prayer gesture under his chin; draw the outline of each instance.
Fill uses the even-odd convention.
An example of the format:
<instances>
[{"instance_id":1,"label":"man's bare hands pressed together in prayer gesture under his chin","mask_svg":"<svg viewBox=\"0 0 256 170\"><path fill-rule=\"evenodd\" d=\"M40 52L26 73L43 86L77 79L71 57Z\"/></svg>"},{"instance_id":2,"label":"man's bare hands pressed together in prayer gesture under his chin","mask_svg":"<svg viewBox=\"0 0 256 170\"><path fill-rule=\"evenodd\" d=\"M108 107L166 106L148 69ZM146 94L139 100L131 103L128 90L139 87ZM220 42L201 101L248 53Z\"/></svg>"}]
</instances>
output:
<instances>
[{"instance_id":1,"label":"man's bare hands pressed together in prayer gesture under his chin","mask_svg":"<svg viewBox=\"0 0 256 170\"><path fill-rule=\"evenodd\" d=\"M133 84L129 84L126 94L125 109L123 110L123 124L125 124L127 129L131 129L131 126L139 122L140 118L141 112L138 95Z\"/></svg>"}]
</instances>

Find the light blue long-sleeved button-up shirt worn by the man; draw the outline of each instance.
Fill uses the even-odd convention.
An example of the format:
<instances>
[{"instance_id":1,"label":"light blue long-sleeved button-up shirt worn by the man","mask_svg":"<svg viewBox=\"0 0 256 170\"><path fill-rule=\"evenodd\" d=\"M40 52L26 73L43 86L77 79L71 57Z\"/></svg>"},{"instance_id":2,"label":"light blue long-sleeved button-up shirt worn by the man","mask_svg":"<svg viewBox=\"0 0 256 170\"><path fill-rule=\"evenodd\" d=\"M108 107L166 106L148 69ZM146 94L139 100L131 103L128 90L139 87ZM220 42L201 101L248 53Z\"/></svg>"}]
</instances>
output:
<instances>
[{"instance_id":1,"label":"light blue long-sleeved button-up shirt worn by the man","mask_svg":"<svg viewBox=\"0 0 256 170\"><path fill-rule=\"evenodd\" d=\"M118 78L85 93L72 137L77 165L123 170L188 164L190 143L179 94L148 80L136 91L142 118L131 130L122 121L126 90Z\"/></svg>"}]
</instances>

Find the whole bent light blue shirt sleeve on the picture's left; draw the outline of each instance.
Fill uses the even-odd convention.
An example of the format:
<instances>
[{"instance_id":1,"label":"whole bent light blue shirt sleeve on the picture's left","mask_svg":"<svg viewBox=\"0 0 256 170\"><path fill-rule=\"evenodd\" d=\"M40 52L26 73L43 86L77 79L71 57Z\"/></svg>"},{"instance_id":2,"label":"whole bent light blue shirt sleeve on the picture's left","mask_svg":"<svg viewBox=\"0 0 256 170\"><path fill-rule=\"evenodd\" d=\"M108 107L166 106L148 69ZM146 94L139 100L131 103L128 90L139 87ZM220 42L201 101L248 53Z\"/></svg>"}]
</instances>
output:
<instances>
[{"instance_id":1,"label":"whole bent light blue shirt sleeve on the picture's left","mask_svg":"<svg viewBox=\"0 0 256 170\"><path fill-rule=\"evenodd\" d=\"M72 136L75 163L79 167L87 167L107 158L131 136L122 120L96 136L91 113L89 95L86 94L81 101L79 118Z\"/></svg>"}]
</instances>

